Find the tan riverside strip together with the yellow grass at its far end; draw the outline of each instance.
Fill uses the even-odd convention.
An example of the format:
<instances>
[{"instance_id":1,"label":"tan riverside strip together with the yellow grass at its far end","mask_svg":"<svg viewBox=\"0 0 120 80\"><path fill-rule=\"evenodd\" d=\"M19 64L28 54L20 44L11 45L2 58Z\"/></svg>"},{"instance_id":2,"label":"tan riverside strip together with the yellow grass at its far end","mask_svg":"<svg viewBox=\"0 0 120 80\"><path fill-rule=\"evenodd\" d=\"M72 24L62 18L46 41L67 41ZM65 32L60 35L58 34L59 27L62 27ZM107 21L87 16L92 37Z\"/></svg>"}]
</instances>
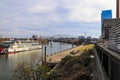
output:
<instances>
[{"instance_id":1,"label":"tan riverside strip together with the yellow grass at its far end","mask_svg":"<svg viewBox=\"0 0 120 80\"><path fill-rule=\"evenodd\" d=\"M65 56L68 55L81 55L84 51L86 51L88 48L90 48L93 45L80 45L74 48L70 48L58 53L54 53L51 55L48 55L46 57L46 62L49 63L58 63L62 60L62 58L64 58Z\"/></svg>"}]
</instances>

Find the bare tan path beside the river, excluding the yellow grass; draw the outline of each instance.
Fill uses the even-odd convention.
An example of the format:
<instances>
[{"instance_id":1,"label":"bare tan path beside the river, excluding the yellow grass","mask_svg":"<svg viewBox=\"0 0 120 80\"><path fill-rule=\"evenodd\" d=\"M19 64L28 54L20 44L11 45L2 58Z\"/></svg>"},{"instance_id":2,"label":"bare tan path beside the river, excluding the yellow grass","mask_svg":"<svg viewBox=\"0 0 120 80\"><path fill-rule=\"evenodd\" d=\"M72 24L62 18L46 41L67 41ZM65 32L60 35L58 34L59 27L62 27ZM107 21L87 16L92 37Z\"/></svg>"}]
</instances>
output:
<instances>
[{"instance_id":1,"label":"bare tan path beside the river, excluding the yellow grass","mask_svg":"<svg viewBox=\"0 0 120 80\"><path fill-rule=\"evenodd\" d=\"M46 57L46 62L50 63L60 62L62 58L64 58L67 55L70 55L70 52L72 51L77 52L80 49L80 47L83 47L83 45L59 52L57 54L53 54L52 56L48 56Z\"/></svg>"}]
</instances>

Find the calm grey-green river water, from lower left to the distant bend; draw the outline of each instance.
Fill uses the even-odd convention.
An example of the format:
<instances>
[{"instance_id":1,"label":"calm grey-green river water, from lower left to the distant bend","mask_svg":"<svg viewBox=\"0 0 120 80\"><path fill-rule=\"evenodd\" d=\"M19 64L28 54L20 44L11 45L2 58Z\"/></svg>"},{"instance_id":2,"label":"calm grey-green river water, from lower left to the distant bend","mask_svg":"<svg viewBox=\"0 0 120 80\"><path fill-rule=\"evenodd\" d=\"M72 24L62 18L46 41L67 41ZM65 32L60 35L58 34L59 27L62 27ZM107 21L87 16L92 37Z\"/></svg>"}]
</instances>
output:
<instances>
[{"instance_id":1,"label":"calm grey-green river water, from lower left to the distant bend","mask_svg":"<svg viewBox=\"0 0 120 80\"><path fill-rule=\"evenodd\" d=\"M46 46L46 53L50 55L51 53L59 52L68 48L71 48L71 44L50 42L48 45L43 45L42 50L33 50L27 52L21 52L16 54L1 55L0 56L0 80L12 80L15 68L19 63L29 63L32 56L40 61L41 55L44 53L44 48Z\"/></svg>"}]
</instances>

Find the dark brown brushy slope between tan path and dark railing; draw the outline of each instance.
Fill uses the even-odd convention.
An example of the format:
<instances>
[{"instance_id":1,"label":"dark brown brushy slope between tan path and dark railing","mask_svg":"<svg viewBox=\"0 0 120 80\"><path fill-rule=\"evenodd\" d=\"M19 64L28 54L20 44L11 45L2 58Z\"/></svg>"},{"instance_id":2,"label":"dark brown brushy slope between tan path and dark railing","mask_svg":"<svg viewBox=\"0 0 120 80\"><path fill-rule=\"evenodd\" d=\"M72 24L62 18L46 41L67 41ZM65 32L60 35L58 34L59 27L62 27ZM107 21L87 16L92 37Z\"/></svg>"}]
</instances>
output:
<instances>
[{"instance_id":1,"label":"dark brown brushy slope between tan path and dark railing","mask_svg":"<svg viewBox=\"0 0 120 80\"><path fill-rule=\"evenodd\" d=\"M96 80L96 65L92 50L80 56L66 56L49 73L49 80Z\"/></svg>"}]
</instances>

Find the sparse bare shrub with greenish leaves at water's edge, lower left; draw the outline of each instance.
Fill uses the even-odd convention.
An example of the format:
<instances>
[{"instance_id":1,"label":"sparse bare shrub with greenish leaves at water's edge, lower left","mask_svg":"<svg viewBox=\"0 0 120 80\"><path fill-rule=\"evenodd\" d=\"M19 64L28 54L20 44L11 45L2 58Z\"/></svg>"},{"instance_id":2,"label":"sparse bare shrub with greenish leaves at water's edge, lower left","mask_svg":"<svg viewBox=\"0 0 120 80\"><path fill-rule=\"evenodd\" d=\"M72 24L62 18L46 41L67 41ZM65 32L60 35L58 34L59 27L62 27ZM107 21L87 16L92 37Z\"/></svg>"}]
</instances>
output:
<instances>
[{"instance_id":1,"label":"sparse bare shrub with greenish leaves at water's edge, lower left","mask_svg":"<svg viewBox=\"0 0 120 80\"><path fill-rule=\"evenodd\" d=\"M46 80L49 71L46 65L41 65L37 55L31 55L30 63L18 64L15 69L15 80Z\"/></svg>"}]
</instances>

